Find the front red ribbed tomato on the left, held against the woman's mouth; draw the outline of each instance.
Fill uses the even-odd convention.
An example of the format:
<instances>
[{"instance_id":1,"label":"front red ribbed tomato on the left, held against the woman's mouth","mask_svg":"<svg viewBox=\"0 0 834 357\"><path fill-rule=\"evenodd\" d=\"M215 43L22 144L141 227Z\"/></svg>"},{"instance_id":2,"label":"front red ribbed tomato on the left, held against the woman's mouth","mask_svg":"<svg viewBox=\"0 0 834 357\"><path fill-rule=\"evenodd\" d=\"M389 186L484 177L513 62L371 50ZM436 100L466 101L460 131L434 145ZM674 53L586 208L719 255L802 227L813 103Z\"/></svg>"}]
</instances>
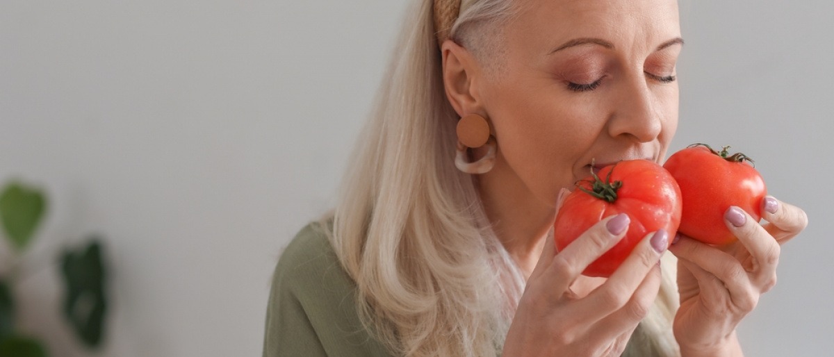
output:
<instances>
[{"instance_id":1,"label":"front red ribbed tomato on the left, held against the woman's mouth","mask_svg":"<svg viewBox=\"0 0 834 357\"><path fill-rule=\"evenodd\" d=\"M681 222L681 190L657 163L620 161L602 168L598 175L591 173L576 186L556 214L557 250L565 249L605 217L625 213L631 218L625 237L591 263L584 275L609 277L646 234L660 229L675 234Z\"/></svg>"}]
</instances>

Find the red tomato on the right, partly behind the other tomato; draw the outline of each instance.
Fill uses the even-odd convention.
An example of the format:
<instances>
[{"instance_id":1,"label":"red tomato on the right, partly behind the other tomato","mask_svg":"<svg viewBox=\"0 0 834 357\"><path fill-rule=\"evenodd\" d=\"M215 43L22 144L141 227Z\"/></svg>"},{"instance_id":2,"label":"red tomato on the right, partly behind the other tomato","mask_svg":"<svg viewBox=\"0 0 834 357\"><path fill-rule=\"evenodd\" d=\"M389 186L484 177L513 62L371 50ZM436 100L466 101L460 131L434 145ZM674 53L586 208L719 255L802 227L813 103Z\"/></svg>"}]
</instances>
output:
<instances>
[{"instance_id":1,"label":"red tomato on the right, partly behind the other tomato","mask_svg":"<svg viewBox=\"0 0 834 357\"><path fill-rule=\"evenodd\" d=\"M682 234L706 244L730 244L736 237L724 224L730 206L744 209L753 219L761 219L761 200L767 189L756 168L744 161L743 153L728 155L727 148L716 152L696 143L666 160L663 165L681 187L683 195Z\"/></svg>"}]
</instances>

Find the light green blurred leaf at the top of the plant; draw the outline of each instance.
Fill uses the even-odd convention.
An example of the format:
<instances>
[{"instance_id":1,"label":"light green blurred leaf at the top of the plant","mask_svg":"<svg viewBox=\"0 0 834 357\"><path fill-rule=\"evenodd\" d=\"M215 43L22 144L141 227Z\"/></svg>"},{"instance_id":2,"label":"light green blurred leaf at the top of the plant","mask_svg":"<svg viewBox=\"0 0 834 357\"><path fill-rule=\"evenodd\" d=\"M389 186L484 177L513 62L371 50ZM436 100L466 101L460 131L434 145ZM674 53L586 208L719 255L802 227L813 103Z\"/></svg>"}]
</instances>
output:
<instances>
[{"instance_id":1,"label":"light green blurred leaf at the top of the plant","mask_svg":"<svg viewBox=\"0 0 834 357\"><path fill-rule=\"evenodd\" d=\"M18 250L26 247L43 218L46 199L35 188L20 183L7 184L0 194L0 216L6 235Z\"/></svg>"}]
</instances>

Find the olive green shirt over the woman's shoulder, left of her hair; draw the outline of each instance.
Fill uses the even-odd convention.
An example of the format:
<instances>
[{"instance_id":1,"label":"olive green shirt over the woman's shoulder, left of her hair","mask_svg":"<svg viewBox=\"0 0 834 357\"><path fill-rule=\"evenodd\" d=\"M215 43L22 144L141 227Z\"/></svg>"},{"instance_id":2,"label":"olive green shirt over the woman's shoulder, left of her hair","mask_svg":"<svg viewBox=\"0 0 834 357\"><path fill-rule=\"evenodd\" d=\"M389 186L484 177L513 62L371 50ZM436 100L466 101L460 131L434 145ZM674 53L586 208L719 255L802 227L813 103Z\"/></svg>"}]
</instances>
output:
<instances>
[{"instance_id":1,"label":"olive green shirt over the woman's shoulder, left of her hair","mask_svg":"<svg viewBox=\"0 0 834 357\"><path fill-rule=\"evenodd\" d=\"M264 357L390 356L359 322L355 290L319 225L304 227L275 268Z\"/></svg>"}]
</instances>

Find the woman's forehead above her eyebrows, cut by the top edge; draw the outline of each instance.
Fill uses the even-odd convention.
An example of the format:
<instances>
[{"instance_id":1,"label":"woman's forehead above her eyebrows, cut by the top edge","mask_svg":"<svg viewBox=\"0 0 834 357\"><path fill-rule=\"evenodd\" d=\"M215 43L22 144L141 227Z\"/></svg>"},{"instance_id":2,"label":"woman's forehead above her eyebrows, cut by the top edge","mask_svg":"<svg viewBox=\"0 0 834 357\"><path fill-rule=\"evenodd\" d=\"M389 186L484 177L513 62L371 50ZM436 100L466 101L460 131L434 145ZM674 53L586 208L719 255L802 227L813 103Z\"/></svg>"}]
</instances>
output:
<instances>
[{"instance_id":1,"label":"woman's forehead above her eyebrows, cut by the top edge","mask_svg":"<svg viewBox=\"0 0 834 357\"><path fill-rule=\"evenodd\" d=\"M587 37L656 46L681 33L676 0L517 0L517 5L508 30L526 40Z\"/></svg>"}]
</instances>

